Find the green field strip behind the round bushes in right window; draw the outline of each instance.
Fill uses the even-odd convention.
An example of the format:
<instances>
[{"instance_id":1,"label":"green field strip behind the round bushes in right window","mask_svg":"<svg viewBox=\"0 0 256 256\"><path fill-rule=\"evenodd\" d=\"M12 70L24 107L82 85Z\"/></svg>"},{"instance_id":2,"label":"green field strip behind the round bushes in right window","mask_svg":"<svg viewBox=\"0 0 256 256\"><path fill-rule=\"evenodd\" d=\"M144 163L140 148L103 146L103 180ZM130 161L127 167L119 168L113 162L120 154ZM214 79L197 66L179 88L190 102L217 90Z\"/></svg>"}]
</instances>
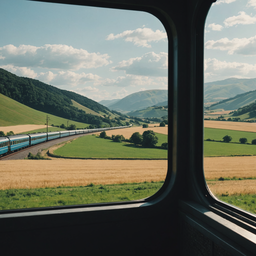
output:
<instances>
[{"instance_id":1,"label":"green field strip behind the round bushes in right window","mask_svg":"<svg viewBox=\"0 0 256 256\"><path fill-rule=\"evenodd\" d=\"M225 135L232 137L231 142L239 142L239 138L245 137L248 140L248 143L252 139L256 138L256 131L238 131L238 130L226 130L226 129L215 129L215 128L204 128L204 139L210 138L214 140L223 140L222 138Z\"/></svg>"}]
</instances>

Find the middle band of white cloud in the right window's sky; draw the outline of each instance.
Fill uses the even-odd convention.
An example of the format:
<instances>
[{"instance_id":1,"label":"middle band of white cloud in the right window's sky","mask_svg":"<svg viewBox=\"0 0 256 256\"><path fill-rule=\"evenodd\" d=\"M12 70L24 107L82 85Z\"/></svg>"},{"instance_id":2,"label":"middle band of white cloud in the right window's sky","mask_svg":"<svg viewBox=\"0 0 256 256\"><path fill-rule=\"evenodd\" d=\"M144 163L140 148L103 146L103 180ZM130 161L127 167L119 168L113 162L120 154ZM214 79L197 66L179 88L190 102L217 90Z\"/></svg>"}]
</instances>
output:
<instances>
[{"instance_id":1,"label":"middle band of white cloud in the right window's sky","mask_svg":"<svg viewBox=\"0 0 256 256\"><path fill-rule=\"evenodd\" d=\"M250 38L221 38L209 40L205 43L206 49L227 50L228 54L256 55L256 35Z\"/></svg>"}]
</instances>

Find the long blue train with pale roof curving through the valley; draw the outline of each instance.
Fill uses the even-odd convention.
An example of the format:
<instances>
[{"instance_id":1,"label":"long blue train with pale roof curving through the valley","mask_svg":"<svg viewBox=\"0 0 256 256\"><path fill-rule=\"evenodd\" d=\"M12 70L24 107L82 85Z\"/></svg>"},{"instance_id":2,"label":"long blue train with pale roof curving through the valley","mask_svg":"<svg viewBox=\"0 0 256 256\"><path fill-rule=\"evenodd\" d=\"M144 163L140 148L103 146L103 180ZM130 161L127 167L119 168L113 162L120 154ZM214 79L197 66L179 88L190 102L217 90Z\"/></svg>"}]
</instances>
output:
<instances>
[{"instance_id":1,"label":"long blue train with pale roof curving through the valley","mask_svg":"<svg viewBox=\"0 0 256 256\"><path fill-rule=\"evenodd\" d=\"M118 126L109 128L98 128L98 129L81 129L81 130L61 130L61 131L50 131L50 132L39 132L30 134L17 134L9 136L0 136L0 156L8 154L19 149L32 146L41 142L49 141L56 138L66 137L70 135L88 133L94 131L103 131L111 129L120 129L130 127Z\"/></svg>"}]
</instances>

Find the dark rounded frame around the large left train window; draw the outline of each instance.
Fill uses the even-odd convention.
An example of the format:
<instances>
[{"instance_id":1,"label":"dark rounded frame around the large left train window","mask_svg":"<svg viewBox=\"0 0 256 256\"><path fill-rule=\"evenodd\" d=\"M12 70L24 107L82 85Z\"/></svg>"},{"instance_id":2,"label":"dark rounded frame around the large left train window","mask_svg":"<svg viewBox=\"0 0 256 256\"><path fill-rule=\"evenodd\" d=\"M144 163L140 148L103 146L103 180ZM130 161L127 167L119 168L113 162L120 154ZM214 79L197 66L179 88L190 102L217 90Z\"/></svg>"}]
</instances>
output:
<instances>
[{"instance_id":1,"label":"dark rounded frame around the large left train window","mask_svg":"<svg viewBox=\"0 0 256 256\"><path fill-rule=\"evenodd\" d=\"M63 4L70 4L70 5L81 5L81 6L94 6L94 7L105 7L105 8L115 8L115 9L126 9L126 10L134 10L134 11L145 11L148 12L151 15L154 15L156 18L158 18L160 20L160 22L163 24L163 26L165 27L165 24L167 24L171 29L167 29L166 33L167 33L167 39L168 39L168 101L170 101L169 99L171 98L172 100L172 105L169 106L169 112L171 112L171 114L168 113L168 119L173 120L173 123L176 123L176 104L177 104L177 100L176 100L176 89L177 89L177 74L175 72L177 72L177 56L176 56L176 52L174 50L174 47L176 45L176 31L175 31L175 25L173 23L172 20L168 20L166 19L166 17L163 15L163 13L161 13L161 11L159 11L159 9L157 9L157 7L153 7L153 6L145 6L145 5L136 5L133 3L120 3L120 4L114 4L114 7L109 4L108 2L104 2L103 1L86 1L86 3L81 3L79 0L75 0L75 1L70 1L70 0L62 0L62 1L52 1L52 0L28 0L28 1L41 1L41 2L53 2L53 3L63 3ZM119 5L119 6L118 6ZM169 22L171 22L171 25L169 24ZM170 51L171 49L171 51ZM169 52L170 51L170 52ZM170 81L169 77L173 77L173 79ZM170 97L170 95L172 95L172 97ZM171 102L171 101L170 101ZM22 208L22 209L9 209L9 210L0 210L0 219L1 218L5 218L5 216L8 218L8 216L12 216L12 214L27 214L30 215L32 212L37 215L37 213L39 212L47 212L46 214L54 214L54 211L58 211L58 210L72 210L72 209L81 209L82 211L91 211L91 209L107 209L107 207L109 206L111 209L114 208L115 206L118 208L120 207L128 207L130 208L131 206L136 208L136 207L140 207L140 206L149 206L152 205L154 203L157 203L161 200L164 200L167 193L172 189L172 186L175 182L175 177L176 177L176 170L175 170L175 153L173 154L173 150L172 148L175 148L175 143L176 143L176 139L175 139L175 135L173 135L173 127L175 125L170 125L168 126L168 143L170 141L172 141L172 147L170 147L168 149L168 166L172 166L172 168L170 170L166 171L166 177L165 180L163 182L163 185L160 187L160 189L153 195L146 197L146 198L141 198L141 199L137 199L137 200L130 200L130 201L115 201L115 202L105 202L105 203L88 203L88 204L73 204L73 205L64 205L64 206L48 206L48 207L38 207L38 208ZM174 128L174 130L176 130ZM54 136L54 134L51 134L51 136ZM171 139L169 139L169 137L171 136ZM19 143L18 140L13 141L14 143ZM169 157L169 155L171 155L171 157ZM169 160L171 159L171 160ZM171 163L171 164L170 164ZM174 168L173 168L174 166ZM166 193L167 192L167 193ZM173 197L174 194L172 194L171 197ZM137 204L137 205L135 205ZM102 207L102 205L104 206L104 208Z\"/></svg>"}]
</instances>

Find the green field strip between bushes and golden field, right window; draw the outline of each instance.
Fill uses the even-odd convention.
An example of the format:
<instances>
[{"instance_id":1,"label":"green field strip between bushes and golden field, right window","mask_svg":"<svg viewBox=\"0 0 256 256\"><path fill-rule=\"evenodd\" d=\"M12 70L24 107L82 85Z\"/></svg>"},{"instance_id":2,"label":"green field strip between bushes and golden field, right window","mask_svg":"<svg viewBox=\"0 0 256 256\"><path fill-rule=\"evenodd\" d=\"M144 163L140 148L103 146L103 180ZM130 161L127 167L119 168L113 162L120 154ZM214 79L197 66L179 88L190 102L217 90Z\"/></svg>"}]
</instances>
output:
<instances>
[{"instance_id":1,"label":"green field strip between bushes and golden field, right window","mask_svg":"<svg viewBox=\"0 0 256 256\"><path fill-rule=\"evenodd\" d=\"M204 156L234 156L256 154L256 145L204 141Z\"/></svg>"}]
</instances>

